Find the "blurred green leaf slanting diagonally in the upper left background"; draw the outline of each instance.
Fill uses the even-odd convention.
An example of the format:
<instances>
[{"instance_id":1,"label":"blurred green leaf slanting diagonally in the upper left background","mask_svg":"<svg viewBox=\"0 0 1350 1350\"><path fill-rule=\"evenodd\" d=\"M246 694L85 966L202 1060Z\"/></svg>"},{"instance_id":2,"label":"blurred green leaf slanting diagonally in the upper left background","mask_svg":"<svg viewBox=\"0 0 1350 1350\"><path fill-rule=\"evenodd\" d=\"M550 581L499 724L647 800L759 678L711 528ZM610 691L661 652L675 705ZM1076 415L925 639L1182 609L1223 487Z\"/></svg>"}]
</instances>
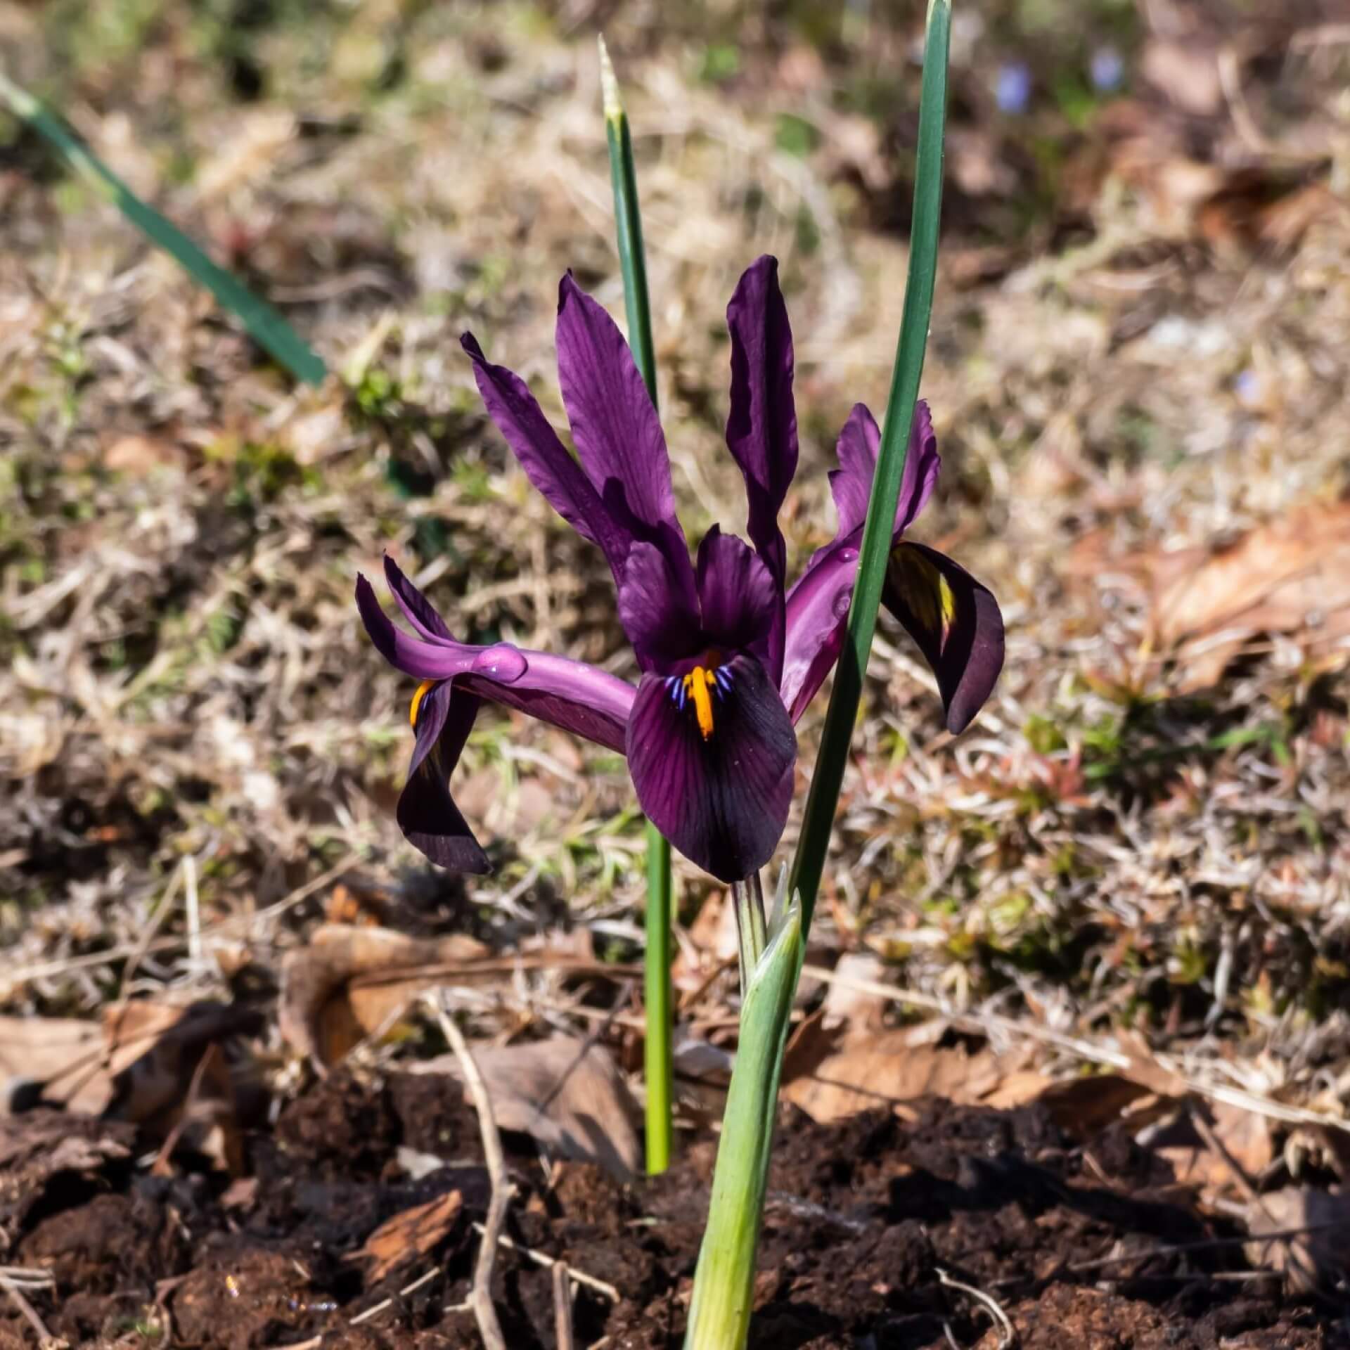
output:
<instances>
[{"instance_id":1,"label":"blurred green leaf slanting diagonally in the upper left background","mask_svg":"<svg viewBox=\"0 0 1350 1350\"><path fill-rule=\"evenodd\" d=\"M205 286L223 309L235 315L271 358L296 379L321 385L327 369L323 358L309 347L285 319L261 296L255 296L238 277L212 262L177 225L170 224L154 207L142 201L78 136L26 89L0 74L0 100L16 117L26 122L54 146L66 163L92 184L153 244L163 248L200 286Z\"/></svg>"}]
</instances>

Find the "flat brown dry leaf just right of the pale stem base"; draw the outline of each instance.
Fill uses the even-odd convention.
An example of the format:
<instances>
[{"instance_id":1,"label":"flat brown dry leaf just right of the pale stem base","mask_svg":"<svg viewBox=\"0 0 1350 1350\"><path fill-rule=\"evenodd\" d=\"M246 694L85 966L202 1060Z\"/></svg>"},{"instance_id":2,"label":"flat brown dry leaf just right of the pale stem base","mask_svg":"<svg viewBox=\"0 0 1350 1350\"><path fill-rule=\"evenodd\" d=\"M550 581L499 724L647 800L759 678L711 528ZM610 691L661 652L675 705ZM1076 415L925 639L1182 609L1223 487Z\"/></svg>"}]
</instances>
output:
<instances>
[{"instance_id":1,"label":"flat brown dry leaf just right of the pale stem base","mask_svg":"<svg viewBox=\"0 0 1350 1350\"><path fill-rule=\"evenodd\" d=\"M819 1013L798 1027L783 1061L783 1096L822 1125L927 1096L1023 1106L1049 1081L992 1050L915 1044L911 1030L832 1031Z\"/></svg>"}]
</instances>

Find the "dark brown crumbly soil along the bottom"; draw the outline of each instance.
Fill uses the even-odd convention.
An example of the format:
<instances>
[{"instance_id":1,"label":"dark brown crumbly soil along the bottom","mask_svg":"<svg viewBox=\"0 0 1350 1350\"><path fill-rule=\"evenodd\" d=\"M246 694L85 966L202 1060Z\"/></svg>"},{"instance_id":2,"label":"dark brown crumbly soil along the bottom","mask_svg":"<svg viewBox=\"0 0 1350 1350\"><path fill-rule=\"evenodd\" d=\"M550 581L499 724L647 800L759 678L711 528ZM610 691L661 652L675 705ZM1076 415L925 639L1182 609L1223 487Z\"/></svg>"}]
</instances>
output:
<instances>
[{"instance_id":1,"label":"dark brown crumbly soil along the bottom","mask_svg":"<svg viewBox=\"0 0 1350 1350\"><path fill-rule=\"evenodd\" d=\"M55 1289L28 1297L72 1345L481 1345L458 1305L487 1176L452 1084L336 1075L250 1137L252 1177L234 1184L186 1164L151 1174L124 1126L99 1149L92 1122L62 1125L76 1123L47 1111L0 1120L0 1158L22 1160L0 1168L0 1241L5 1264L51 1272ZM90 1142L66 1146L70 1166L35 1165L76 1135ZM632 1187L574 1162L545 1172L524 1138L508 1146L514 1241L622 1293L613 1305L578 1292L576 1345L679 1346L713 1143ZM1253 1273L1241 1245L1220 1241L1234 1231L1197 1214L1165 1164L1123 1133L1075 1145L1042 1108L936 1102L913 1123L876 1112L830 1127L787 1111L771 1187L760 1350L994 1350L998 1327L971 1289L1006 1311L1029 1350L1350 1346L1347 1310ZM451 1191L463 1204L439 1239L370 1280L370 1234ZM504 1250L495 1295L512 1350L555 1345L547 1269ZM26 1339L27 1323L0 1300L0 1346Z\"/></svg>"}]
</instances>

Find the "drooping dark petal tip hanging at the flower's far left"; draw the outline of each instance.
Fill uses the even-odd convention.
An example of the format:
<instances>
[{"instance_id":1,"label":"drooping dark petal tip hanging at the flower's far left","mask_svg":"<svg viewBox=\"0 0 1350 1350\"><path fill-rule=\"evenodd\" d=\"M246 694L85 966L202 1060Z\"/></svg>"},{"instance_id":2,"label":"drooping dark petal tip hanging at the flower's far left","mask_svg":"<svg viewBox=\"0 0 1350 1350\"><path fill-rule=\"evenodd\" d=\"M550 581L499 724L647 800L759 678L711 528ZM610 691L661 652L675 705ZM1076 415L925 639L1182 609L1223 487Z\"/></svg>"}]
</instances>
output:
<instances>
[{"instance_id":1,"label":"drooping dark petal tip hanging at the flower's far left","mask_svg":"<svg viewBox=\"0 0 1350 1350\"><path fill-rule=\"evenodd\" d=\"M408 842L437 867L481 875L490 871L487 855L450 795L450 775L474 729L478 703L448 680L423 695L417 705L417 744L396 814Z\"/></svg>"}]
</instances>

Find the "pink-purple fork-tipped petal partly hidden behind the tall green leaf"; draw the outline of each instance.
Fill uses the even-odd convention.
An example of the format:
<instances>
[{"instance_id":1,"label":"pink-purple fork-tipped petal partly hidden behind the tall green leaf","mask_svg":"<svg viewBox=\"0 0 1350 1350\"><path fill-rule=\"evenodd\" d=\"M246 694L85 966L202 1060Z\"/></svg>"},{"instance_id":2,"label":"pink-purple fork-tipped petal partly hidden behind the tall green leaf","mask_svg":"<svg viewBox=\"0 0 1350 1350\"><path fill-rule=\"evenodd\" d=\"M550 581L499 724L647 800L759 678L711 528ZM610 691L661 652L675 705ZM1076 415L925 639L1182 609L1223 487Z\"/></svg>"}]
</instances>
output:
<instances>
[{"instance_id":1,"label":"pink-purple fork-tipped petal partly hidden behind the tall green leaf","mask_svg":"<svg viewBox=\"0 0 1350 1350\"><path fill-rule=\"evenodd\" d=\"M838 531L834 541L815 554L787 597L787 643L779 688L794 722L806 711L844 645L879 444L876 420L863 404L856 404L840 433L841 467L830 474ZM921 400L910 427L909 454L895 506L894 539L900 537L927 504L940 467L933 418L927 404Z\"/></svg>"}]
</instances>

